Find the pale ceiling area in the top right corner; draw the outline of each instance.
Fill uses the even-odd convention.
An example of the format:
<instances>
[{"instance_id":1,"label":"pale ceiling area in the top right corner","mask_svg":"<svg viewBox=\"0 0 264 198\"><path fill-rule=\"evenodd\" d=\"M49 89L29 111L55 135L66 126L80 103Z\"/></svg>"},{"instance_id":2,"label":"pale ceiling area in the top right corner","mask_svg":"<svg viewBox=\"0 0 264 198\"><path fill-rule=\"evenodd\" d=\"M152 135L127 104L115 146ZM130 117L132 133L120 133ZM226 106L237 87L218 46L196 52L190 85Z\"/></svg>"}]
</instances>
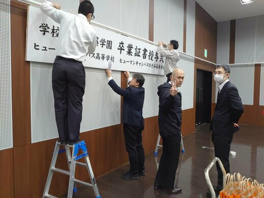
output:
<instances>
[{"instance_id":1,"label":"pale ceiling area in the top right corner","mask_svg":"<svg viewBox=\"0 0 264 198\"><path fill-rule=\"evenodd\" d=\"M216 21L226 21L264 14L264 0L242 5L240 0L196 0Z\"/></svg>"}]
</instances>

